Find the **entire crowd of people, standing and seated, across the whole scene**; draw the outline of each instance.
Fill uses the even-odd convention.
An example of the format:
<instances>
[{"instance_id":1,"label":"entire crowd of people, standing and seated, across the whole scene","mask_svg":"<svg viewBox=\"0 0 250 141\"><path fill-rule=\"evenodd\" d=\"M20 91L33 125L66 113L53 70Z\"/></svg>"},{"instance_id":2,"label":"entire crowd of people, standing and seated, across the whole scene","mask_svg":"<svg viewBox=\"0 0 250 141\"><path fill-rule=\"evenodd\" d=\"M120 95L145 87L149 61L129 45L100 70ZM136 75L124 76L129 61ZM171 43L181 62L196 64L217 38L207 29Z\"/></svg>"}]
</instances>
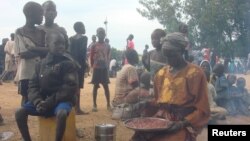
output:
<instances>
[{"instance_id":1,"label":"entire crowd of people, standing and seated, across the whole scene","mask_svg":"<svg viewBox=\"0 0 250 141\"><path fill-rule=\"evenodd\" d=\"M83 22L75 22L76 34L71 37L54 22L57 10L53 1L42 5L28 2L23 13L24 26L11 34L10 41L2 42L1 49L4 48L6 55L5 62L1 60L1 65L5 64L1 81L14 79L18 84L22 101L15 118L25 141L31 141L29 115L55 116L55 140L61 141L73 107L77 115L89 114L80 106L85 71L92 71L92 112L98 112L101 84L112 119L143 116L171 121L166 131L135 132L131 141L194 141L208 123L216 124L227 115L250 115L246 80L232 74L226 77L224 66L214 59L202 59L196 65L190 57L186 24L180 24L178 31L169 34L155 29L151 34L154 49L148 51L146 45L142 60L136 51L134 35L130 34L122 67L117 71L117 61L111 60L111 46L104 28L97 28L88 46ZM142 70L137 67L140 61ZM116 78L112 100L110 76ZM124 109L129 110L123 112Z\"/></svg>"}]
</instances>

